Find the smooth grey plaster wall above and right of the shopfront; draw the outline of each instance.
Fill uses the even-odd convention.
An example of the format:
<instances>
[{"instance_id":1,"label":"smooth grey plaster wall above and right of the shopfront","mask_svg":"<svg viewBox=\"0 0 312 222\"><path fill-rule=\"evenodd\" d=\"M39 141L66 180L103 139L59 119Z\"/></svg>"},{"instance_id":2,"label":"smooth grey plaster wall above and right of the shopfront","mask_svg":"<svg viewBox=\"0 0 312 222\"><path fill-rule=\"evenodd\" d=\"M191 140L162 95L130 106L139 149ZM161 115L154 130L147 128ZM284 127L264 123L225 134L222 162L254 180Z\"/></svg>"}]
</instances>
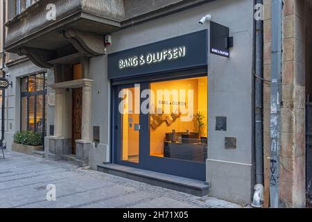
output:
<instances>
[{"instance_id":1,"label":"smooth grey plaster wall above and right of the shopfront","mask_svg":"<svg viewBox=\"0 0 312 222\"><path fill-rule=\"evenodd\" d=\"M112 33L107 47L107 53L114 53L209 29L209 22L198 24L207 13L229 27L234 37L230 58L209 56L207 182L212 196L239 203L250 202L253 187L253 6L250 0L214 1ZM216 117L227 117L227 131L216 131ZM225 149L225 137L235 137L237 148Z\"/></svg>"}]
</instances>

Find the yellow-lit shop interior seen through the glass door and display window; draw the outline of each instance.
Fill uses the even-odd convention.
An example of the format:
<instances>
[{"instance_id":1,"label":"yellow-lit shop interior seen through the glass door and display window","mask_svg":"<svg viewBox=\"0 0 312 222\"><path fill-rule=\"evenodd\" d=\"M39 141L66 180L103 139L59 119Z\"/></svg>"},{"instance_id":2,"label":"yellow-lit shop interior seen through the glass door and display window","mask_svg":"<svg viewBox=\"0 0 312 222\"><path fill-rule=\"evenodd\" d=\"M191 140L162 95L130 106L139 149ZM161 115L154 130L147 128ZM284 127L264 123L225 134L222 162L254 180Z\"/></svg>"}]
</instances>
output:
<instances>
[{"instance_id":1,"label":"yellow-lit shop interior seen through the glass door and display window","mask_svg":"<svg viewBox=\"0 0 312 222\"><path fill-rule=\"evenodd\" d=\"M150 83L151 156L205 162L207 88L207 76ZM140 95L137 85L119 94L121 160L134 163L139 163Z\"/></svg>"}]
</instances>

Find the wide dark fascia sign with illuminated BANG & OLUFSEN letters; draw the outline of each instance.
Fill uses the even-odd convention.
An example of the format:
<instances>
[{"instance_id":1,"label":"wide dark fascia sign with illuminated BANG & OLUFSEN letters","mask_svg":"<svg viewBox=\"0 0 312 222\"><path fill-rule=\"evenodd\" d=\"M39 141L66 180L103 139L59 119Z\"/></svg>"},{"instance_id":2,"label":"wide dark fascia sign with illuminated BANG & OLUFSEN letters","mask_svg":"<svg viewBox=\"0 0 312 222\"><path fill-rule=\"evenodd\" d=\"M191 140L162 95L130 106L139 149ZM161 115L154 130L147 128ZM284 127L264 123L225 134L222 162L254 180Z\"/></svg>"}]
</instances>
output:
<instances>
[{"instance_id":1,"label":"wide dark fascia sign with illuminated BANG & OLUFSEN letters","mask_svg":"<svg viewBox=\"0 0 312 222\"><path fill-rule=\"evenodd\" d=\"M208 31L189 33L108 55L108 76L119 79L205 67L207 52Z\"/></svg>"}]
</instances>

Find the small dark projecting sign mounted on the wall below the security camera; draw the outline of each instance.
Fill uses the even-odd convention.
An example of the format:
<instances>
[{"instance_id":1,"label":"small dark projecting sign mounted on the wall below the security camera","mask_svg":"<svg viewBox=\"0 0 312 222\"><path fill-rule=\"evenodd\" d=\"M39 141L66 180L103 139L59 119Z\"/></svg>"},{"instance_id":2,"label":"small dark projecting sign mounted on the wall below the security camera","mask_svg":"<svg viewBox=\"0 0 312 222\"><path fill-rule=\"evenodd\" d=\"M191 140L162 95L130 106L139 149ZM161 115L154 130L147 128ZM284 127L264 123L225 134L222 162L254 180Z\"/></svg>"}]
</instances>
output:
<instances>
[{"instance_id":1,"label":"small dark projecting sign mounted on the wall below the security camera","mask_svg":"<svg viewBox=\"0 0 312 222\"><path fill-rule=\"evenodd\" d=\"M210 53L229 58L232 40L232 37L229 37L228 27L210 22Z\"/></svg>"}]
</instances>

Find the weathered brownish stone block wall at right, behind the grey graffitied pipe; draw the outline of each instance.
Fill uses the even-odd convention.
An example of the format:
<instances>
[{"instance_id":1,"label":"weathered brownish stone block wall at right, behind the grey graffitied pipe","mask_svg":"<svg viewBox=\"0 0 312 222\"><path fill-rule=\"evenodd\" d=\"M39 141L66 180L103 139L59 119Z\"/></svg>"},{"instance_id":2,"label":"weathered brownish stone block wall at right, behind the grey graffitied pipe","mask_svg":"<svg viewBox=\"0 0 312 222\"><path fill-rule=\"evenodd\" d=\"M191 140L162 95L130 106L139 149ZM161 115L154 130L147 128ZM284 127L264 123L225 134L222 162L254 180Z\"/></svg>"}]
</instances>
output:
<instances>
[{"instance_id":1,"label":"weathered brownish stone block wall at right, behind the grey graffitied pipe","mask_svg":"<svg viewBox=\"0 0 312 222\"><path fill-rule=\"evenodd\" d=\"M265 0L264 77L271 75L271 0ZM281 207L305 206L305 28L304 1L284 0L281 150ZM264 83L266 203L270 177L270 83Z\"/></svg>"}]
</instances>

